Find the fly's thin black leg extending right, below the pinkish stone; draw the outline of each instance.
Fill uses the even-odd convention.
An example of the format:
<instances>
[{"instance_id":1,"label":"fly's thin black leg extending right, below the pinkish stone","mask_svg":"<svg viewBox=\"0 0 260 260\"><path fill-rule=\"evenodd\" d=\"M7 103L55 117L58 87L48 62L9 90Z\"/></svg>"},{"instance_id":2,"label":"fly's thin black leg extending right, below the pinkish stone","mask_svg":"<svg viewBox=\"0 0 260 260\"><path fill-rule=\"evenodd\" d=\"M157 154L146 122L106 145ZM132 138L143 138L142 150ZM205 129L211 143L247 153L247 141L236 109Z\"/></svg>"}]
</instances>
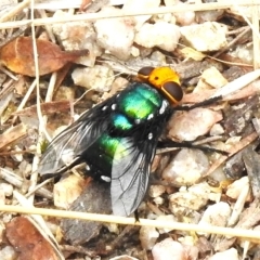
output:
<instances>
[{"instance_id":1,"label":"fly's thin black leg extending right, below the pinkish stone","mask_svg":"<svg viewBox=\"0 0 260 260\"><path fill-rule=\"evenodd\" d=\"M193 144L192 142L174 142L172 140L165 140L165 141L159 141L157 148L196 148L196 150L202 150L205 152L216 152L222 155L229 155L227 152L222 151L222 150L217 150L217 148L212 148L212 147L208 147L208 146L204 146L204 145L196 145Z\"/></svg>"}]
</instances>

